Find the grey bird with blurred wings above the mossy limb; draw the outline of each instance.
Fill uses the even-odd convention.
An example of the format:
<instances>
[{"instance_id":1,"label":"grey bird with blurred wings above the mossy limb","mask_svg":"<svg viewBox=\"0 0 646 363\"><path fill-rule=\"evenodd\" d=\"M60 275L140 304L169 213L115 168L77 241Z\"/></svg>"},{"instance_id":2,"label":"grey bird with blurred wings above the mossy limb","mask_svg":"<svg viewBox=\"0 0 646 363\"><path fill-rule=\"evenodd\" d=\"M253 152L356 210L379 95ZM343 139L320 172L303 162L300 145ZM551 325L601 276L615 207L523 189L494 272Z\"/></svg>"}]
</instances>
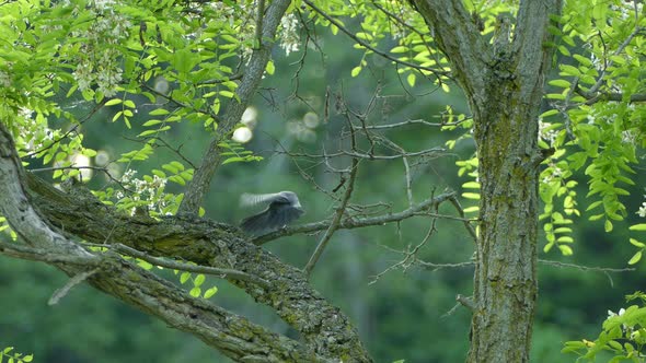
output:
<instances>
[{"instance_id":1,"label":"grey bird with blurred wings above the mossy limb","mask_svg":"<svg viewBox=\"0 0 646 363\"><path fill-rule=\"evenodd\" d=\"M280 230L298 220L305 212L293 191L280 191L267 195L245 192L240 197L240 204L245 207L267 204L265 210L245 218L240 223L244 232L254 236Z\"/></svg>"}]
</instances>

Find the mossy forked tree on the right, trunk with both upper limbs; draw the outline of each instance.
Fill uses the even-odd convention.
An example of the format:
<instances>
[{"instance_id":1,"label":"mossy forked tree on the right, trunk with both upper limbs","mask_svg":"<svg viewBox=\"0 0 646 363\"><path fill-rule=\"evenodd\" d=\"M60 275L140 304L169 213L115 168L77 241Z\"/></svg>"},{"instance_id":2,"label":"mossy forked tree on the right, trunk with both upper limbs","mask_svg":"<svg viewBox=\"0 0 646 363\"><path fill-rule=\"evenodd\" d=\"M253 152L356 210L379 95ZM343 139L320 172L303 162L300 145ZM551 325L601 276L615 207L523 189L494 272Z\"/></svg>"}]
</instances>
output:
<instances>
[{"instance_id":1,"label":"mossy forked tree on the right, trunk with both upper limbs","mask_svg":"<svg viewBox=\"0 0 646 363\"><path fill-rule=\"evenodd\" d=\"M538 115L560 0L521 1L512 38L487 44L462 2L413 1L473 114L481 183L469 362L528 362L538 294Z\"/></svg>"}]
</instances>

